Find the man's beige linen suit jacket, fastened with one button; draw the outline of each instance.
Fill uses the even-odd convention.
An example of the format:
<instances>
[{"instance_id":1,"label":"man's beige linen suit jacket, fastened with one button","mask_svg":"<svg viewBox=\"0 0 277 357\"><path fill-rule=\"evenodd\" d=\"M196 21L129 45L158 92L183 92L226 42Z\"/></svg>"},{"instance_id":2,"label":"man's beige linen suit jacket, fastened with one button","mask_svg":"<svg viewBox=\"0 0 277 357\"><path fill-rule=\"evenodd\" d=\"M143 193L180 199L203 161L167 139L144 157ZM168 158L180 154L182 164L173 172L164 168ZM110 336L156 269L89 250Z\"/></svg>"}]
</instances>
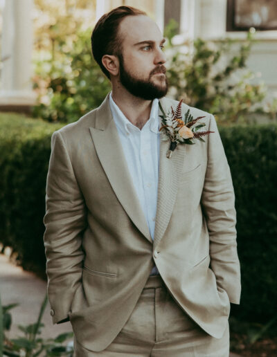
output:
<instances>
[{"instance_id":1,"label":"man's beige linen suit jacket, fastened with one button","mask_svg":"<svg viewBox=\"0 0 277 357\"><path fill-rule=\"evenodd\" d=\"M164 111L177 101L161 98ZM188 105L183 104L186 111ZM102 351L132 313L154 263L179 306L215 338L240 300L234 192L215 118L205 143L161 140L154 242L129 176L108 96L55 131L44 244L53 323L69 318L82 346ZM161 113L160 113L161 114Z\"/></svg>"}]
</instances>

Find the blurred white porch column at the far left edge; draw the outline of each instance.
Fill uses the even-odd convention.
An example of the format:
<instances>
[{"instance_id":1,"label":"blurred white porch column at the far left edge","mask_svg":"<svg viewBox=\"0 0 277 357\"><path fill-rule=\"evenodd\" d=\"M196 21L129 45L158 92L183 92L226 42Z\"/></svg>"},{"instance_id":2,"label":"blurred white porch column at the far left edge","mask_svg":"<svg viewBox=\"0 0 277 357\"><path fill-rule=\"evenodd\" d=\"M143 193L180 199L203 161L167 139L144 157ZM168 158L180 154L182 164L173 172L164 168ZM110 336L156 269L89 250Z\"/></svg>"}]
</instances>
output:
<instances>
[{"instance_id":1,"label":"blurred white porch column at the far left edge","mask_svg":"<svg viewBox=\"0 0 277 357\"><path fill-rule=\"evenodd\" d=\"M3 8L0 110L30 107L32 91L33 0L6 0Z\"/></svg>"}]
</instances>

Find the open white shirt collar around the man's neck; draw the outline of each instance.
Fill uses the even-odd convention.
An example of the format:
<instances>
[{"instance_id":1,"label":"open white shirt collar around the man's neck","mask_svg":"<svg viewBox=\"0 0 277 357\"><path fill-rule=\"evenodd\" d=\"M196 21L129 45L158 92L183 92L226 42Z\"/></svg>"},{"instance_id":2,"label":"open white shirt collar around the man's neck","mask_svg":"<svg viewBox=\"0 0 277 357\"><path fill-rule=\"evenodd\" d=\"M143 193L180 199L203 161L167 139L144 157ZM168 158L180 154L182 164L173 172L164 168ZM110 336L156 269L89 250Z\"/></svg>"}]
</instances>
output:
<instances>
[{"instance_id":1,"label":"open white shirt collar around the man's neck","mask_svg":"<svg viewBox=\"0 0 277 357\"><path fill-rule=\"evenodd\" d=\"M109 93L109 105L111 107L111 113L114 121L116 122L116 127L118 127L123 134L129 135L130 131L140 131L138 127L133 125L132 122L125 117L116 102L114 102L111 93ZM154 133L159 133L159 99L157 98L152 101L150 117L143 128L146 129L147 127L149 127Z\"/></svg>"}]
</instances>

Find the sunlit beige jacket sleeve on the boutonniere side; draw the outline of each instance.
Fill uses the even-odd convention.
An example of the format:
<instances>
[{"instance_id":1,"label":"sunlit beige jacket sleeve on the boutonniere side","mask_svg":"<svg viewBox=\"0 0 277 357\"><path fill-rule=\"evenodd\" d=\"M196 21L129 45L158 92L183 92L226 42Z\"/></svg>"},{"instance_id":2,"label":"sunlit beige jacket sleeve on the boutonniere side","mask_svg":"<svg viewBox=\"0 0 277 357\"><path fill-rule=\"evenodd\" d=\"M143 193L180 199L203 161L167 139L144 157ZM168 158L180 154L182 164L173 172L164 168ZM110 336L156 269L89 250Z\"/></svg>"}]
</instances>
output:
<instances>
[{"instance_id":1,"label":"sunlit beige jacket sleeve on the boutonniere side","mask_svg":"<svg viewBox=\"0 0 277 357\"><path fill-rule=\"evenodd\" d=\"M202 208L210 237L211 269L217 286L229 295L230 302L240 303L240 262L235 229L235 194L230 168L214 116L208 135L208 165L202 192Z\"/></svg>"}]
</instances>

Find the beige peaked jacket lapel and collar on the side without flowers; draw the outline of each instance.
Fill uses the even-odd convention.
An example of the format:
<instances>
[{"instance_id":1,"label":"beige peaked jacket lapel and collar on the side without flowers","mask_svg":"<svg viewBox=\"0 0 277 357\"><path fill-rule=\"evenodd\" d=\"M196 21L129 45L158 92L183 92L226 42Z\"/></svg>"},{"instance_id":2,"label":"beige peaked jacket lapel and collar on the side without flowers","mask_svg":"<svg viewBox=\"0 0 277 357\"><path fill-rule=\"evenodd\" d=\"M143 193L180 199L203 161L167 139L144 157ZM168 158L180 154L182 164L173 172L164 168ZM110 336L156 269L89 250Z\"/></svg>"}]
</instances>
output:
<instances>
[{"instance_id":1,"label":"beige peaked jacket lapel and collar on the side without flowers","mask_svg":"<svg viewBox=\"0 0 277 357\"><path fill-rule=\"evenodd\" d=\"M152 243L141 204L123 152L116 124L111 116L109 95L96 113L96 125L89 128L100 163L125 212L143 235Z\"/></svg>"}]
</instances>

